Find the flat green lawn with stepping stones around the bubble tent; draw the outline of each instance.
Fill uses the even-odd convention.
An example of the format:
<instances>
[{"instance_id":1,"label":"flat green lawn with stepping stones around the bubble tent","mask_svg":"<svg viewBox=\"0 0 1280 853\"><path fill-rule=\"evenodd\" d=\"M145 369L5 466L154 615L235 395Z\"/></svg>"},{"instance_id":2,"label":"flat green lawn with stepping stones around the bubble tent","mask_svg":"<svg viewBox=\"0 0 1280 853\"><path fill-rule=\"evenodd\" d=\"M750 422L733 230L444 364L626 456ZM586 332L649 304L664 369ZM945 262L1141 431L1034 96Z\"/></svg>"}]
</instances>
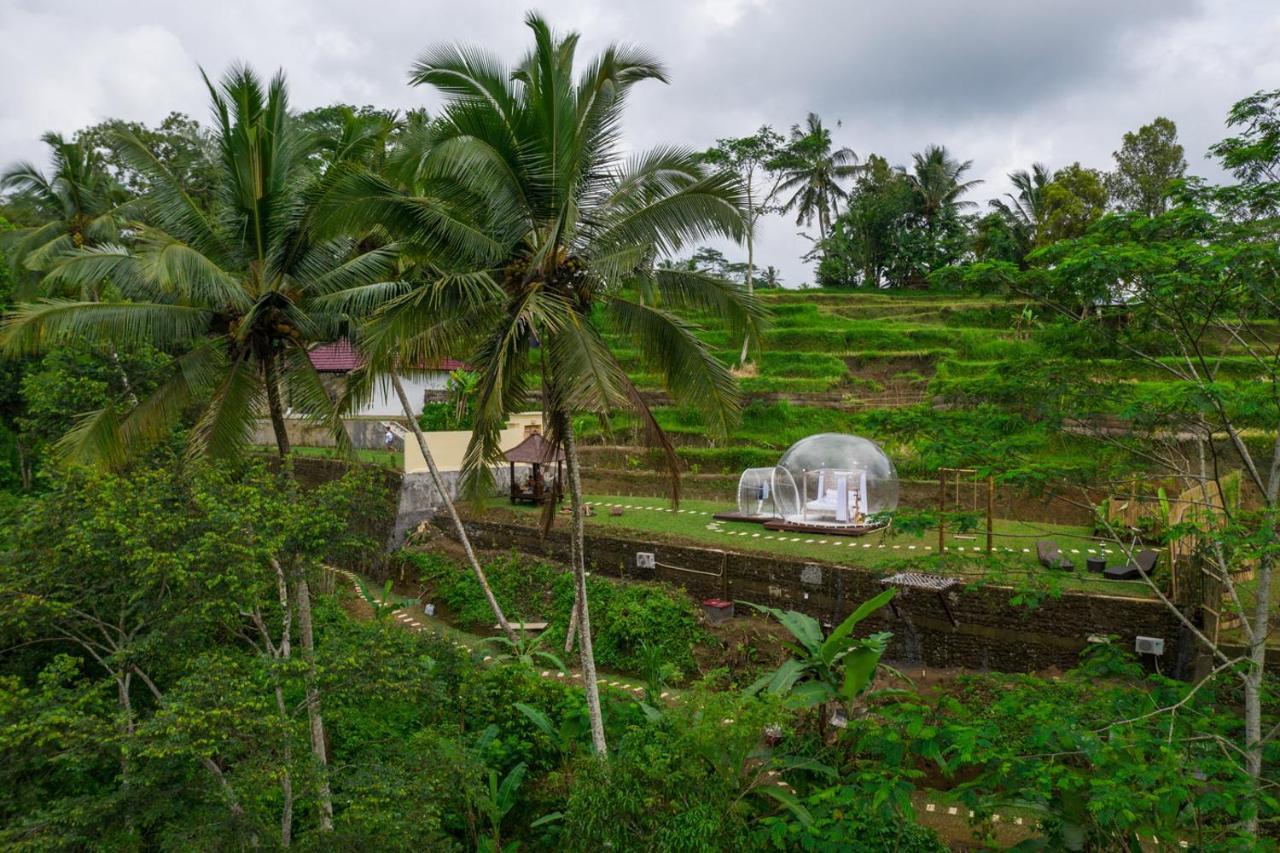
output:
<instances>
[{"instance_id":1,"label":"flat green lawn with stepping stones around the bubble tent","mask_svg":"<svg viewBox=\"0 0 1280 853\"><path fill-rule=\"evenodd\" d=\"M1084 558L1089 549L1098 552L1103 546L1089 538L1083 526L1037 524L1027 521L996 520L996 555L983 553L986 535L947 537L947 555L937 556L936 530L923 535L876 533L865 537L822 537L815 534L776 533L758 524L742 521L717 521L712 516L731 508L714 501L685 500L672 508L664 498L588 496L594 515L588 525L602 533L641 535L657 542L689 543L737 552L762 552L783 557L833 562L883 571L914 569L966 579L1009 584L1057 585L1064 589L1110 593L1116 596L1149 597L1146 584L1103 580L1084 571ZM622 507L621 516L609 515L614 506ZM508 515L509 512L509 515ZM495 500L492 515L508 515L517 521L536 523L541 510L512 507L504 500ZM1069 558L1075 562L1075 573L1048 571L1036 560L1036 539L1055 539ZM1120 560L1119 555L1112 555Z\"/></svg>"}]
</instances>

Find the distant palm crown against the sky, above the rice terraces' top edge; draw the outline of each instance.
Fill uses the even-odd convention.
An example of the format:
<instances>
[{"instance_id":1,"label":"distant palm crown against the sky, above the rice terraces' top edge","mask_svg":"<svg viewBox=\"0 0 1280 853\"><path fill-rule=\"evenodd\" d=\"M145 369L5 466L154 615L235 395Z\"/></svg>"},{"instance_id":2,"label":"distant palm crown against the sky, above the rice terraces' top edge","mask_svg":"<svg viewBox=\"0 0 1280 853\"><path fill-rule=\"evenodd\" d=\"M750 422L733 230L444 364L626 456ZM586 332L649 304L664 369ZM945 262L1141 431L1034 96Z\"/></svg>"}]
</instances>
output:
<instances>
[{"instance_id":1,"label":"distant palm crown against the sky, above the rice terraces' top edge","mask_svg":"<svg viewBox=\"0 0 1280 853\"><path fill-rule=\"evenodd\" d=\"M858 174L858 155L849 147L832 149L831 131L817 113L809 113L803 131L791 128L791 142L780 165L783 177L777 191L791 193L782 213L794 210L797 225L808 227L817 219L818 240L827 240L836 206L849 196L841 182Z\"/></svg>"}]
</instances>

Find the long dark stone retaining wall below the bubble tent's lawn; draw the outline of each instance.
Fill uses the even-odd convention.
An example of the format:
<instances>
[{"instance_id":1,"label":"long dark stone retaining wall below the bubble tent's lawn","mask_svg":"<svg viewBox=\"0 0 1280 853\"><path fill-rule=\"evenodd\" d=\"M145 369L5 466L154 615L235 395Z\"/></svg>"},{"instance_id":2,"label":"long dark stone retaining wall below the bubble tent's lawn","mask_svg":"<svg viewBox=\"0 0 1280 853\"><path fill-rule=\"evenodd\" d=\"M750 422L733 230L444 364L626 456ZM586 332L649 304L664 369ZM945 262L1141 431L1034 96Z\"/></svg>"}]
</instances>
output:
<instances>
[{"instance_id":1,"label":"long dark stone retaining wall below the bubble tent's lawn","mask_svg":"<svg viewBox=\"0 0 1280 853\"><path fill-rule=\"evenodd\" d=\"M468 521L467 532L481 548L516 548L568 561L568 538L562 530L544 539L529 526ZM640 551L655 555L655 569L636 567L635 555ZM884 588L882 575L868 569L641 539L590 535L586 552L590 569L603 575L663 580L684 587L698 601L751 601L804 611L828 624L837 624ZM1011 603L1015 594L993 585L947 592L952 624L937 593L900 590L896 615L886 607L864 625L867 630L892 631L888 657L904 663L1007 672L1068 669L1076 663L1091 635L1116 635L1126 648L1133 648L1134 638L1142 635L1165 640L1160 661L1164 672L1189 676L1193 670L1192 638L1157 601L1062 593L1029 608Z\"/></svg>"}]
</instances>

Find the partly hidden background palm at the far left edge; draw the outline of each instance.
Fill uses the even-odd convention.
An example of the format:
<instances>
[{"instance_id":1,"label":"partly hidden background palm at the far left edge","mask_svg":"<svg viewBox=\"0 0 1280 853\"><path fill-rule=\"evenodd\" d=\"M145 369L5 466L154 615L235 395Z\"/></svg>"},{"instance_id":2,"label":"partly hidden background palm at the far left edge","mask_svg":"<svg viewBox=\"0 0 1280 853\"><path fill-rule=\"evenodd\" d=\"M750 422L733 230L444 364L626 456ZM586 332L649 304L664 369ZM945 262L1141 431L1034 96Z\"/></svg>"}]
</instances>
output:
<instances>
[{"instance_id":1,"label":"partly hidden background palm at the far left edge","mask_svg":"<svg viewBox=\"0 0 1280 853\"><path fill-rule=\"evenodd\" d=\"M49 146L46 175L31 163L0 174L0 191L29 209L42 224L4 236L10 261L19 269L42 270L59 252L119 240L129 196L106 170L96 151L58 133L41 137ZM100 282L82 295L97 297Z\"/></svg>"}]
</instances>

